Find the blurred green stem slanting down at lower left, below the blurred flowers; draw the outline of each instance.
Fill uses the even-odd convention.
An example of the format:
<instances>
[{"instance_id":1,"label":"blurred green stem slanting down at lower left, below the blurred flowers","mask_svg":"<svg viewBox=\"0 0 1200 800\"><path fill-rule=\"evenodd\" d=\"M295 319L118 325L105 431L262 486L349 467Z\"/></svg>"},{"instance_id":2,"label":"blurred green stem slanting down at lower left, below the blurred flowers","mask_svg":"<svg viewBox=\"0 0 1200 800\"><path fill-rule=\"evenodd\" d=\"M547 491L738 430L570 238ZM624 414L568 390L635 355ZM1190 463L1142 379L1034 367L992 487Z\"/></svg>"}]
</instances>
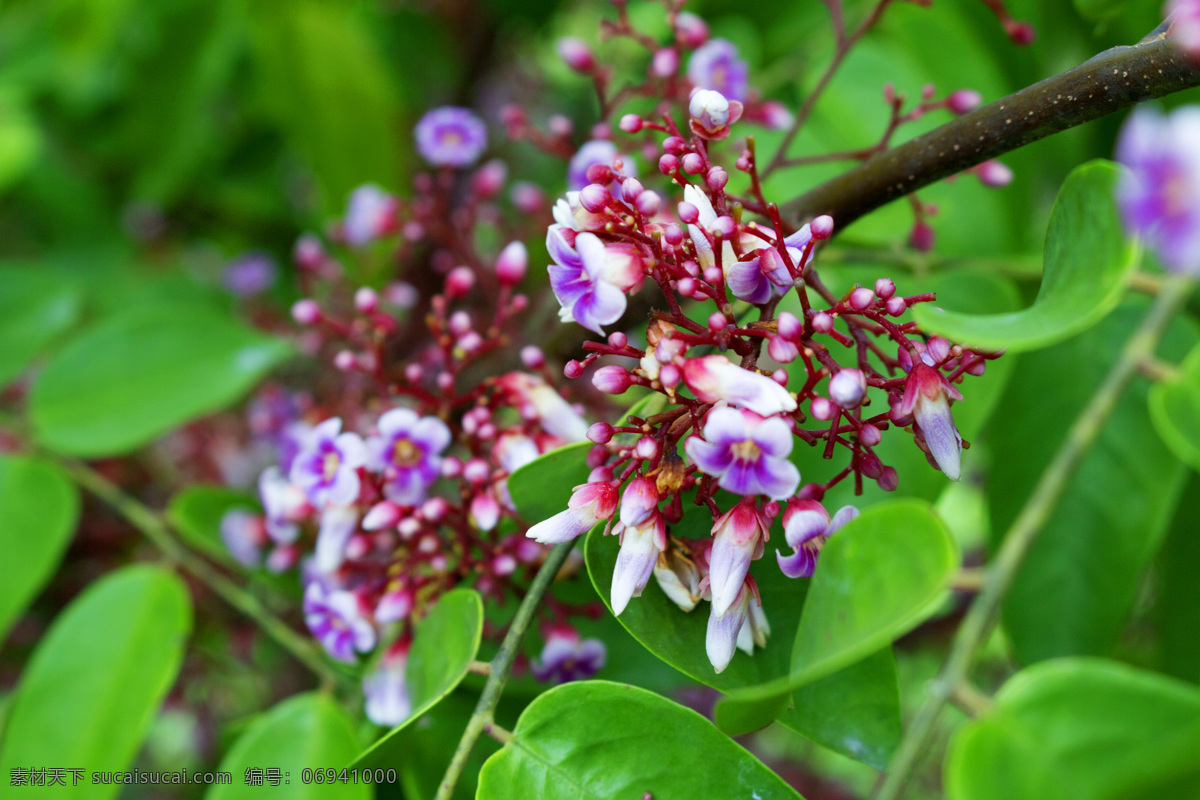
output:
<instances>
[{"instance_id":1,"label":"blurred green stem slanting down at lower left, below the blurred flowers","mask_svg":"<svg viewBox=\"0 0 1200 800\"><path fill-rule=\"evenodd\" d=\"M119 515L137 528L173 564L190 572L218 597L250 616L264 633L290 652L307 667L323 686L334 686L342 680L341 673L330 667L324 656L305 637L271 613L258 597L239 587L204 559L197 557L175 541L162 516L121 491L119 486L80 462L60 458L59 462L76 483L107 503Z\"/></svg>"}]
</instances>

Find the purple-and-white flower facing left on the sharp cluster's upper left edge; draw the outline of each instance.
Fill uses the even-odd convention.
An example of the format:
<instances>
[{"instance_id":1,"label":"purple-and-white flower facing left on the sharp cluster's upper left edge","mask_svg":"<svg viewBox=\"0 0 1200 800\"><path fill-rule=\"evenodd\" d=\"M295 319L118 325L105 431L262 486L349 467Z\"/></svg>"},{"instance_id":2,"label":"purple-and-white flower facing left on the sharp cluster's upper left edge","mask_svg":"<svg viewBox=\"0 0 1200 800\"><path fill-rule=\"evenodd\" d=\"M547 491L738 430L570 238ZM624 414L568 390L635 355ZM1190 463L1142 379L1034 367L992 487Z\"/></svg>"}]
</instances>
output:
<instances>
[{"instance_id":1,"label":"purple-and-white flower facing left on the sharp cluster's upper left edge","mask_svg":"<svg viewBox=\"0 0 1200 800\"><path fill-rule=\"evenodd\" d=\"M550 287L562 306L559 318L604 333L625 313L625 293L644 278L641 254L632 245L605 245L594 234L575 236L572 248L564 228L552 225L546 249L554 259L547 269Z\"/></svg>"}]
</instances>

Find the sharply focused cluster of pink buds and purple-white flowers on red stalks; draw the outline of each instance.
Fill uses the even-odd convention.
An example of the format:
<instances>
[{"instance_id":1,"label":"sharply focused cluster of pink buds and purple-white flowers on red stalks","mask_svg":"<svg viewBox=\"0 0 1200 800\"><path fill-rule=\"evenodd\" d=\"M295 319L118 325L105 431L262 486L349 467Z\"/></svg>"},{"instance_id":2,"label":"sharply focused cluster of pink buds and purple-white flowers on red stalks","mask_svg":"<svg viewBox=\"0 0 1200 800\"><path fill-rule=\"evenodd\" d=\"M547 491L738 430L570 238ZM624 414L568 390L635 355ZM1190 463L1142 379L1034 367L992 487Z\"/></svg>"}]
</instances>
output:
<instances>
[{"instance_id":1,"label":"sharply focused cluster of pink buds and purple-white flowers on red stalks","mask_svg":"<svg viewBox=\"0 0 1200 800\"><path fill-rule=\"evenodd\" d=\"M707 31L680 37L673 22L676 49L707 38ZM636 36L624 17L614 30ZM590 52L574 66L607 74ZM610 108L605 82L596 83L601 107ZM898 487L896 470L876 452L889 431L910 431L930 464L959 480L965 444L950 403L962 399L958 384L998 354L920 331L905 318L934 295L902 295L887 277L842 296L826 288L815 260L834 221L787 225L762 194L752 142L732 149L732 168L718 156L734 127L754 116L745 65L731 44L707 41L688 80L671 85L688 92L685 124L670 113L626 114L619 128L628 139L586 145L586 168L578 156L571 167L587 182L558 200L546 234L560 318L601 337L584 343L587 355L566 365L566 377L589 374L604 393L636 389L661 402L646 416L588 429L595 444L588 482L528 536L570 541L602 524L619 541L613 612L652 576L684 610L708 600L707 651L721 672L738 646L750 652L769 633L750 570L775 519L787 545L776 551L780 570L809 577L822 543L857 516L853 506L830 515L821 503L829 488L844 480L858 492L864 480ZM934 101L926 89L905 115L902 98L886 94L895 114L881 146L906 118L937 108L966 113L979 103L967 91ZM623 155L630 152L656 161L658 191L637 176L634 158ZM977 172L996 186L1010 178L994 163ZM665 307L634 330L630 297L648 284ZM618 330L605 336L611 326ZM847 453L845 469L828 482L802 483L797 451L808 449L796 449L797 440L824 458ZM676 537L673 527L695 513L710 515L710 537Z\"/></svg>"}]
</instances>

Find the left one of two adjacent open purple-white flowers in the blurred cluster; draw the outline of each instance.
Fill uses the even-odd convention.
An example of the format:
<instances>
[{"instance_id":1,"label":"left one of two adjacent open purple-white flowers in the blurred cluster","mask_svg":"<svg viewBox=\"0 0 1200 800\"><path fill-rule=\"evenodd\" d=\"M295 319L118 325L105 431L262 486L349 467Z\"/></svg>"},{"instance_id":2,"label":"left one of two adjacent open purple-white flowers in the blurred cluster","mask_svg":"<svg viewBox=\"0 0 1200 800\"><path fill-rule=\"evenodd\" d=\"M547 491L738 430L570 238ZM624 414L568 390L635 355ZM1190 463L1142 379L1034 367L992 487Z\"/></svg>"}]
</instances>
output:
<instances>
[{"instance_id":1,"label":"left one of two adjacent open purple-white flowers in the blurred cluster","mask_svg":"<svg viewBox=\"0 0 1200 800\"><path fill-rule=\"evenodd\" d=\"M342 420L325 420L305 438L292 462L290 481L305 491L317 509L346 506L359 497L355 471L366 463L366 446L356 433L340 433Z\"/></svg>"}]
</instances>

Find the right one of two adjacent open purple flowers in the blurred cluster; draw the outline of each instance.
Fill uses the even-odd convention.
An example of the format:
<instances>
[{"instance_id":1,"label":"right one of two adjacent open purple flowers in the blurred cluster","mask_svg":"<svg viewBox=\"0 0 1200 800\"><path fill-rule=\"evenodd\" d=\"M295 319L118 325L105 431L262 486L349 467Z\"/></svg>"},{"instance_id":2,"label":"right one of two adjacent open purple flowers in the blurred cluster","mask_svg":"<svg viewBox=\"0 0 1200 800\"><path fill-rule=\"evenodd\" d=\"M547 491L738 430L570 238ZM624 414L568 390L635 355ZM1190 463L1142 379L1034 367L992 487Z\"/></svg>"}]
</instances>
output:
<instances>
[{"instance_id":1,"label":"right one of two adjacent open purple flowers in the blurred cluster","mask_svg":"<svg viewBox=\"0 0 1200 800\"><path fill-rule=\"evenodd\" d=\"M415 506L438 480L450 428L436 416L419 417L407 408L388 411L378 427L379 435L367 439L367 465L386 479L384 494L389 500Z\"/></svg>"}]
</instances>

